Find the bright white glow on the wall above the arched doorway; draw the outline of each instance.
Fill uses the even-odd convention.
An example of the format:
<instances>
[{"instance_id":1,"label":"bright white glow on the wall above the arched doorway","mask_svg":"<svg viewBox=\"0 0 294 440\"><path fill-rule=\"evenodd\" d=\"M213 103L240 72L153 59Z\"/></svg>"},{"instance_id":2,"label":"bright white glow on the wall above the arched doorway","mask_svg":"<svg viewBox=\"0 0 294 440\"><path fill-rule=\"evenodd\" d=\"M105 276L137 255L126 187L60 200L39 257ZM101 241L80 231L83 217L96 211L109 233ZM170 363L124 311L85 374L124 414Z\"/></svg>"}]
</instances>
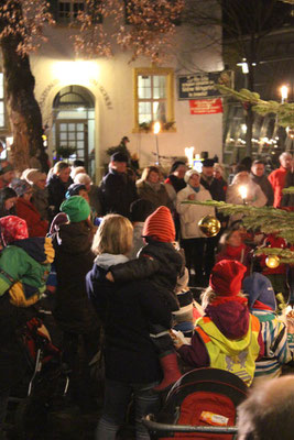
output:
<instances>
[{"instance_id":1,"label":"bright white glow on the wall above the arched doorway","mask_svg":"<svg viewBox=\"0 0 294 440\"><path fill-rule=\"evenodd\" d=\"M61 82L87 84L90 79L98 79L99 66L89 61L56 62L52 66L52 73Z\"/></svg>"}]
</instances>

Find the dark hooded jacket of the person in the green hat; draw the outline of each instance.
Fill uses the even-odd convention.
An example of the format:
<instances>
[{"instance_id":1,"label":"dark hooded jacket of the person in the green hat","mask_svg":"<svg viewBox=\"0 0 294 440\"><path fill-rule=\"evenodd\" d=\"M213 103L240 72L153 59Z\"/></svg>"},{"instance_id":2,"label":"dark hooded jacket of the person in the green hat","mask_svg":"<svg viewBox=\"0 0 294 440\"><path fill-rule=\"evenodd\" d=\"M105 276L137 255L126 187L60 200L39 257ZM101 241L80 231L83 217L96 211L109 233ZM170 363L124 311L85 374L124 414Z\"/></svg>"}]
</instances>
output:
<instances>
[{"instance_id":1,"label":"dark hooded jacket of the person in the green hat","mask_svg":"<svg viewBox=\"0 0 294 440\"><path fill-rule=\"evenodd\" d=\"M83 334L98 329L86 293L86 274L92 266L91 231L86 222L59 226L54 239L57 275L54 317L64 331Z\"/></svg>"}]
</instances>

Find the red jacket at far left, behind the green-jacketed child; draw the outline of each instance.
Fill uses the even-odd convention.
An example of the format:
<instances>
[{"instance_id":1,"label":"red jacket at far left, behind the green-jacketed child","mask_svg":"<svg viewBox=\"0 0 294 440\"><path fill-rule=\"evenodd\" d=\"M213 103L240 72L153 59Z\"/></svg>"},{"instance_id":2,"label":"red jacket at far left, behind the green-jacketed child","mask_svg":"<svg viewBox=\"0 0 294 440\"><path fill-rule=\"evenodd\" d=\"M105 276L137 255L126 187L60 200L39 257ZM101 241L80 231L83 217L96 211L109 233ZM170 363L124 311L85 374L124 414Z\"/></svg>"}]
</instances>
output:
<instances>
[{"instance_id":1,"label":"red jacket at far left, behind the green-jacketed child","mask_svg":"<svg viewBox=\"0 0 294 440\"><path fill-rule=\"evenodd\" d=\"M17 216L26 221L29 237L45 237L48 231L48 222L41 220L41 216L31 201L18 197Z\"/></svg>"}]
</instances>

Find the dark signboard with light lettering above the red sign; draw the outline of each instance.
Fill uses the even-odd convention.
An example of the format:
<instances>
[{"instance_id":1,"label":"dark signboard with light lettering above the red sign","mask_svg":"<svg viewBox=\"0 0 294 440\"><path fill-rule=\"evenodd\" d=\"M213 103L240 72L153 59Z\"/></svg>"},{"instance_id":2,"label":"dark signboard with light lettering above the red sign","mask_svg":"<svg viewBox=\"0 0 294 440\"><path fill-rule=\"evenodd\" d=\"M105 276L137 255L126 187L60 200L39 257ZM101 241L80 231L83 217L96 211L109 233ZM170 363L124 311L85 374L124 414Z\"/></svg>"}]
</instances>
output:
<instances>
[{"instance_id":1,"label":"dark signboard with light lettering above the red sign","mask_svg":"<svg viewBox=\"0 0 294 440\"><path fill-rule=\"evenodd\" d=\"M197 73L193 75L179 75L177 77L178 99L202 99L220 96L215 88L216 84L232 87L232 72Z\"/></svg>"}]
</instances>

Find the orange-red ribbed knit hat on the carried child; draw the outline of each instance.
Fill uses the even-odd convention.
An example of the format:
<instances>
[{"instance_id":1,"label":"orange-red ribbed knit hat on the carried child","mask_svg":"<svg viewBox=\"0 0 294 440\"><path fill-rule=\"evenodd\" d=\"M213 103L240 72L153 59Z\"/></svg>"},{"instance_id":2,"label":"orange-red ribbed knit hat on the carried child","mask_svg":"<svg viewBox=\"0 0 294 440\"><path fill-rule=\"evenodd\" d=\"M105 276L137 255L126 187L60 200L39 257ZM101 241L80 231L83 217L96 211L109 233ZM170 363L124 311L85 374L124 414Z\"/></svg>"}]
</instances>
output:
<instances>
[{"instance_id":1,"label":"orange-red ribbed knit hat on the carried child","mask_svg":"<svg viewBox=\"0 0 294 440\"><path fill-rule=\"evenodd\" d=\"M175 224L170 209L162 206L152 212L144 222L142 235L164 243L175 241Z\"/></svg>"}]
</instances>

